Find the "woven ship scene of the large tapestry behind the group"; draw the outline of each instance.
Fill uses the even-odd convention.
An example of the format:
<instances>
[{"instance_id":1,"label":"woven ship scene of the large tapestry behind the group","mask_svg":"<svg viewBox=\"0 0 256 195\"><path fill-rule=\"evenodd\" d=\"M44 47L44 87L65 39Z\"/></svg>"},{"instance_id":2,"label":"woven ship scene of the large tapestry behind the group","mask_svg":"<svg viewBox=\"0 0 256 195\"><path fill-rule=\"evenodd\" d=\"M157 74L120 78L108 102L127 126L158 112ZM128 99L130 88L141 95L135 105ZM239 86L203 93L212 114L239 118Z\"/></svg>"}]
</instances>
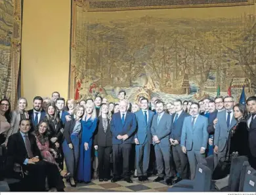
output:
<instances>
[{"instance_id":1,"label":"woven ship scene of the large tapestry behind the group","mask_svg":"<svg viewBox=\"0 0 256 195\"><path fill-rule=\"evenodd\" d=\"M75 99L115 102L125 90L131 102L200 100L217 88L226 96L229 87L239 99L243 86L254 96L255 33L253 15L84 22L75 35Z\"/></svg>"}]
</instances>

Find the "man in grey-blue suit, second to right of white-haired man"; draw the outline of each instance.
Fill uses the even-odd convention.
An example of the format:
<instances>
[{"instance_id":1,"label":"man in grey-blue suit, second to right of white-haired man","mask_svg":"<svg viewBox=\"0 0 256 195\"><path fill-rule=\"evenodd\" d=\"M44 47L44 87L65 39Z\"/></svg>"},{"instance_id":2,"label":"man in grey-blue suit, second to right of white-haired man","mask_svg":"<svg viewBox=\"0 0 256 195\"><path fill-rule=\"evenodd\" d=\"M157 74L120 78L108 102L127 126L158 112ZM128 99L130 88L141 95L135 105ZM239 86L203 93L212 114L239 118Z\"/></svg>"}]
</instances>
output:
<instances>
[{"instance_id":1,"label":"man in grey-blue suit, second to right of white-haired man","mask_svg":"<svg viewBox=\"0 0 256 195\"><path fill-rule=\"evenodd\" d=\"M171 147L169 142L169 134L171 133L171 115L163 111L163 102L156 103L156 112L154 115L151 133L153 136L153 145L156 154L156 167L158 169L158 178L154 182L163 181L163 168L165 175L168 177L165 182L172 185L171 175Z\"/></svg>"}]
</instances>

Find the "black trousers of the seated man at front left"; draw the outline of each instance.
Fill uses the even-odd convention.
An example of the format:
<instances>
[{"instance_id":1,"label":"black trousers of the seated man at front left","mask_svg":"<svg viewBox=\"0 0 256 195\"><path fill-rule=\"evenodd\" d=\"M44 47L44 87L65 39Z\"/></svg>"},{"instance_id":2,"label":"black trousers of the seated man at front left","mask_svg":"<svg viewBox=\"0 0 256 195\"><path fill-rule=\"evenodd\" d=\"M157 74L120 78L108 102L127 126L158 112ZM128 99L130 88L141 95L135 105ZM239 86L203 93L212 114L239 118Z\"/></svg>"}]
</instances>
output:
<instances>
[{"instance_id":1,"label":"black trousers of the seated man at front left","mask_svg":"<svg viewBox=\"0 0 256 195\"><path fill-rule=\"evenodd\" d=\"M51 162L41 160L35 164L27 164L23 168L24 171L28 171L28 175L24 178L23 183L32 192L45 191L46 177L50 188L65 188L58 167Z\"/></svg>"}]
</instances>

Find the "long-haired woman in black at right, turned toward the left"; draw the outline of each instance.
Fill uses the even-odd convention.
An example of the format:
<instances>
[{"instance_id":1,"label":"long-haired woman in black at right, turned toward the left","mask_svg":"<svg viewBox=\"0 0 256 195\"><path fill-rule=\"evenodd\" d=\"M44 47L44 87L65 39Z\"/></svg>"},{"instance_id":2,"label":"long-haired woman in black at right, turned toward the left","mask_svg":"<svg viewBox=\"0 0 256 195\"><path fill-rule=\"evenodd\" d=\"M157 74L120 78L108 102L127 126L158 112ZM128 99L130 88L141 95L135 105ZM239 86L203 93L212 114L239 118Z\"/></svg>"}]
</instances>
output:
<instances>
[{"instance_id":1,"label":"long-haired woman in black at right, turned toward the left","mask_svg":"<svg viewBox=\"0 0 256 195\"><path fill-rule=\"evenodd\" d=\"M247 126L247 109L245 105L238 103L233 108L236 125L230 130L228 137L230 156L248 156L248 126Z\"/></svg>"}]
</instances>

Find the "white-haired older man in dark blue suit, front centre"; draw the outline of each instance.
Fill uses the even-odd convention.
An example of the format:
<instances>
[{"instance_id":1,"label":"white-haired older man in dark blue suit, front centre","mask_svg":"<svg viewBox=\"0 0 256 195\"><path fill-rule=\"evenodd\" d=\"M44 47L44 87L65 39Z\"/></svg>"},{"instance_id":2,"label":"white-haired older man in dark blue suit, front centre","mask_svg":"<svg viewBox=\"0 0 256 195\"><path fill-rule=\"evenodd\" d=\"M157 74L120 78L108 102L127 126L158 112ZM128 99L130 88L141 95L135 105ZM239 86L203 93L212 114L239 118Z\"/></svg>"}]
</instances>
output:
<instances>
[{"instance_id":1,"label":"white-haired older man in dark blue suit, front centre","mask_svg":"<svg viewBox=\"0 0 256 195\"><path fill-rule=\"evenodd\" d=\"M112 116L110 122L114 158L114 177L111 181L112 183L121 179L121 170L123 170L125 181L133 183L129 175L129 163L137 121L135 114L127 112L127 107L127 101L125 99L121 100L119 102L119 112Z\"/></svg>"}]
</instances>

